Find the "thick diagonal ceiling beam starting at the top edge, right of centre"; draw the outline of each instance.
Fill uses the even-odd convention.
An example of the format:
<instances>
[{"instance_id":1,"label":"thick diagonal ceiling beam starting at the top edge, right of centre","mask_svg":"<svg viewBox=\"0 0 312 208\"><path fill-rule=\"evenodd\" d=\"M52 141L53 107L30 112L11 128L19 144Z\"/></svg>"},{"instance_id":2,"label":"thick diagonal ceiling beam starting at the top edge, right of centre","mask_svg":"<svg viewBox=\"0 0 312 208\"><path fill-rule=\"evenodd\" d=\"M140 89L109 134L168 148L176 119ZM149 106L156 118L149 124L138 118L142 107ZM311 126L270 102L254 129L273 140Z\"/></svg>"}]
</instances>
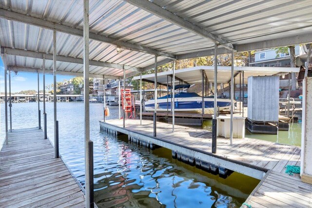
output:
<instances>
[{"instance_id":1,"label":"thick diagonal ceiling beam starting at the top edge, right of centre","mask_svg":"<svg viewBox=\"0 0 312 208\"><path fill-rule=\"evenodd\" d=\"M171 23L174 23L175 25L184 28L187 31L190 31L198 36L201 36L203 38L207 38L210 41L225 47L229 50L233 50L235 51L233 45L231 43L226 42L225 40L223 40L222 38L218 38L217 36L215 36L214 34L208 32L207 30L204 30L198 26L196 26L195 24L178 17L177 15L171 13L170 11L161 8L160 6L158 6L157 4L149 1L149 0L125 0L128 3L131 3L132 5L143 9L153 15L156 15L157 17L161 18L161 19L165 19Z\"/></svg>"}]
</instances>

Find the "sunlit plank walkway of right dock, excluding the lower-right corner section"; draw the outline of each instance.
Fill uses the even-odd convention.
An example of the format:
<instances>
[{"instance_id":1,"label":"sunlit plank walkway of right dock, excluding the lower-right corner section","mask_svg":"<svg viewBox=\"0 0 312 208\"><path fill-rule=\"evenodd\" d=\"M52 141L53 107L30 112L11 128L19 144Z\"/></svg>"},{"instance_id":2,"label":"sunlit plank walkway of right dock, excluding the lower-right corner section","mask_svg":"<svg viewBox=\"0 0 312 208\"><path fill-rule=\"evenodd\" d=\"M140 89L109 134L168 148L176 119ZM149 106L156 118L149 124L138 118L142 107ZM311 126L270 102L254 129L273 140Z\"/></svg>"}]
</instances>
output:
<instances>
[{"instance_id":1,"label":"sunlit plank walkway of right dock, excluding the lower-right corner section","mask_svg":"<svg viewBox=\"0 0 312 208\"><path fill-rule=\"evenodd\" d=\"M122 127L122 120L114 119L106 122ZM139 120L128 119L126 129L152 136L153 121L144 120L142 126L139 125L139 122ZM156 127L157 138L187 145L200 151L211 152L212 139L209 131L175 125L175 132L172 132L172 125L162 122L157 122ZM229 139L219 137L216 155L247 165L284 172L287 165L300 163L300 151L299 147L251 138L233 139L231 146ZM296 155L294 155L295 153ZM299 176L296 175L296 177Z\"/></svg>"}]
</instances>

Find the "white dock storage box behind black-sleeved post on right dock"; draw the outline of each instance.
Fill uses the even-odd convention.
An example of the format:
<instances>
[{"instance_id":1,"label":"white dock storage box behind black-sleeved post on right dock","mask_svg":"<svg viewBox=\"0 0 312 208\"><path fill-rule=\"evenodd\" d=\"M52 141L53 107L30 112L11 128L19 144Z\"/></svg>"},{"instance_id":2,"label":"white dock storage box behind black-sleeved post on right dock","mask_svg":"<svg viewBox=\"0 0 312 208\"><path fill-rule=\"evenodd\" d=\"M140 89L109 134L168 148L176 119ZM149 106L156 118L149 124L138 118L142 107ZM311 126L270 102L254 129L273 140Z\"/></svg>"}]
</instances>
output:
<instances>
[{"instance_id":1,"label":"white dock storage box behind black-sleeved post on right dock","mask_svg":"<svg viewBox=\"0 0 312 208\"><path fill-rule=\"evenodd\" d=\"M213 116L214 117L214 116ZM224 136L230 138L231 130L231 117L220 115L216 117L217 136ZM233 116L233 138L245 137L245 117Z\"/></svg>"}]
</instances>

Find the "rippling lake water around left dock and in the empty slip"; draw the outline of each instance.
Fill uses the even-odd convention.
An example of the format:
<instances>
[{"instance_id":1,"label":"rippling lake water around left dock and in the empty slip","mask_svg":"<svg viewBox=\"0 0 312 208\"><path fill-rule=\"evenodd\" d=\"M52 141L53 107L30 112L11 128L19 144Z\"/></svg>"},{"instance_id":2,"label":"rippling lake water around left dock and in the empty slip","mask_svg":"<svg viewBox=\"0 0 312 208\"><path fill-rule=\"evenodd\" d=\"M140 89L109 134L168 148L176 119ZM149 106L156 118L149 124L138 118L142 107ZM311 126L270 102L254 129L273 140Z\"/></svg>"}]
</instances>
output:
<instances>
[{"instance_id":1,"label":"rippling lake water around left dock and in the empty slip","mask_svg":"<svg viewBox=\"0 0 312 208\"><path fill-rule=\"evenodd\" d=\"M41 113L42 103L40 103ZM46 103L48 137L53 140L53 103ZM103 104L90 104L90 138L94 142L94 188L98 207L226 208L240 207L259 180L232 173L223 179L173 159L165 148L149 150L99 131ZM84 106L58 103L59 149L84 184ZM109 119L118 107L110 107ZM37 103L13 103L13 129L38 126ZM43 119L42 119L43 120ZM43 124L41 124L43 126ZM1 104L4 139L4 104ZM27 141L25 141L27 142ZM52 141L53 142L53 141Z\"/></svg>"}]
</instances>

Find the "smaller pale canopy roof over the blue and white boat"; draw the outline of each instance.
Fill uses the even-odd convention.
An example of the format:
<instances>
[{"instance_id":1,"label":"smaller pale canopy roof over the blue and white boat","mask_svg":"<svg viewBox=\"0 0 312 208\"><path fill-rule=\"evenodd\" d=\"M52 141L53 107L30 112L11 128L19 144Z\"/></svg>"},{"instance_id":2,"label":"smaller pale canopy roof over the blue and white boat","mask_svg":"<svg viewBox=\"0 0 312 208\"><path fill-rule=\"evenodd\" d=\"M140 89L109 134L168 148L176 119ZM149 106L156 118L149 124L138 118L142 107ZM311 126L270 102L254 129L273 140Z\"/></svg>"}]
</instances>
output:
<instances>
[{"instance_id":1,"label":"smaller pale canopy roof over the blue and white boat","mask_svg":"<svg viewBox=\"0 0 312 208\"><path fill-rule=\"evenodd\" d=\"M208 81L214 82L215 79L215 66L196 66L186 69L176 70L176 78L183 80L190 84L201 83L202 70L204 70ZM272 75L285 75L291 72L299 72L300 68L291 67L234 67L235 83L239 83L238 73L244 72L244 83L248 83L249 76L272 76ZM173 71L157 73L157 82L162 85L167 85L167 76L171 77ZM154 83L154 74L143 75L142 80ZM133 79L139 80L140 76L135 76ZM229 83L231 81L231 66L218 66L218 83ZM176 80L176 83L179 81ZM169 85L171 79L169 78Z\"/></svg>"}]
</instances>

